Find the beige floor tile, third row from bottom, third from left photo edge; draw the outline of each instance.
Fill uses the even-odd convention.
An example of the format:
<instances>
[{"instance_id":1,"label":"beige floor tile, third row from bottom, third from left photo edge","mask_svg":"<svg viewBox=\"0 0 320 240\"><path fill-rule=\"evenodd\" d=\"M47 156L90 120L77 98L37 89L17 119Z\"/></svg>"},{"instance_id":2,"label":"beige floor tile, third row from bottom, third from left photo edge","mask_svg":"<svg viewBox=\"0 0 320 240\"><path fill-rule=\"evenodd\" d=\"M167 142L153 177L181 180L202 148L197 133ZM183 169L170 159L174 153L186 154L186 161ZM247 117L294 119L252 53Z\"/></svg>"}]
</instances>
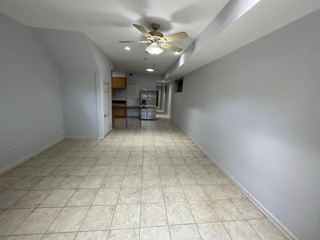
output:
<instances>
[{"instance_id":1,"label":"beige floor tile, third row from bottom, third from left photo edge","mask_svg":"<svg viewBox=\"0 0 320 240\"><path fill-rule=\"evenodd\" d=\"M53 190L38 207L63 207L70 199L75 189Z\"/></svg>"}]
</instances>

